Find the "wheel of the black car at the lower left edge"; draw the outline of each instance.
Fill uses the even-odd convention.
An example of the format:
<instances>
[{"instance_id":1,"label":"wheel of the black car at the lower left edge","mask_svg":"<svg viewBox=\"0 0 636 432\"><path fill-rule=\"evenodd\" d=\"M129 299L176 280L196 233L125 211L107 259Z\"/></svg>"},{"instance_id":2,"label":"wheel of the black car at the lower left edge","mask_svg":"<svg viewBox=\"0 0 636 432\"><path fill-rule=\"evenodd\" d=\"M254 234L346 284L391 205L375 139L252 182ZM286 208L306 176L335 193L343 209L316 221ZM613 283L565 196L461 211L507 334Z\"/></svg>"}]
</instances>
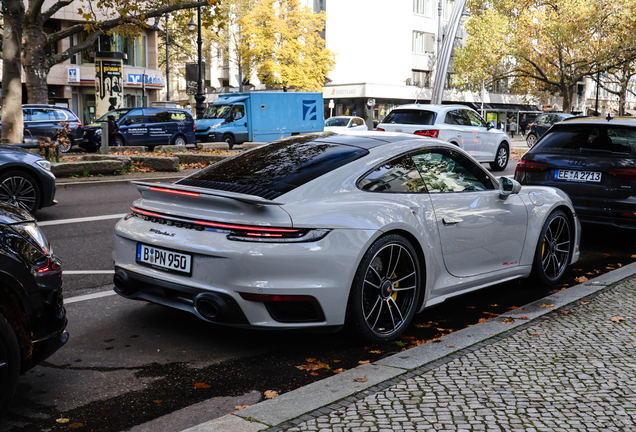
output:
<instances>
[{"instance_id":1,"label":"wheel of the black car at the lower left edge","mask_svg":"<svg viewBox=\"0 0 636 432\"><path fill-rule=\"evenodd\" d=\"M0 418L9 408L20 376L20 347L13 329L0 314Z\"/></svg>"}]
</instances>

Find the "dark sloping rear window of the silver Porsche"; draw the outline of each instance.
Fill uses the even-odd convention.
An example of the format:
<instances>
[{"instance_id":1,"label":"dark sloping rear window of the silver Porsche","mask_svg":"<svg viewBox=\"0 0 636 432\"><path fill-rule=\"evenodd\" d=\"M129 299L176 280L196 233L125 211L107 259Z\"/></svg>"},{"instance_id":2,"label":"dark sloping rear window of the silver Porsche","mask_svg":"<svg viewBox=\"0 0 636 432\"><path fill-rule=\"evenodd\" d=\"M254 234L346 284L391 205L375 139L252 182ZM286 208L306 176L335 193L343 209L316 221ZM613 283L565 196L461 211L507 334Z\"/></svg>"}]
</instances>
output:
<instances>
[{"instance_id":1,"label":"dark sloping rear window of the silver Porsche","mask_svg":"<svg viewBox=\"0 0 636 432\"><path fill-rule=\"evenodd\" d=\"M274 199L368 154L365 149L316 141L318 138L307 135L275 141L177 183Z\"/></svg>"}]
</instances>

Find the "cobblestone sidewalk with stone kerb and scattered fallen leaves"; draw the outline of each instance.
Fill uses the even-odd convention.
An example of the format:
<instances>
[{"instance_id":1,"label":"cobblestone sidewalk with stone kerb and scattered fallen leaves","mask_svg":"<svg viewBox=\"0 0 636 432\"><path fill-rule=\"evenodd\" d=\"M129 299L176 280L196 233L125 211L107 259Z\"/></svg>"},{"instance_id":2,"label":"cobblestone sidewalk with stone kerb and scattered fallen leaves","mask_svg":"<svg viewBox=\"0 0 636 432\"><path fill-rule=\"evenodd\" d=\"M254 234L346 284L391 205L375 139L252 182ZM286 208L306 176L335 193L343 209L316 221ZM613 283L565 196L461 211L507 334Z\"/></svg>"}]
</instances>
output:
<instances>
[{"instance_id":1,"label":"cobblestone sidewalk with stone kerb and scattered fallen leaves","mask_svg":"<svg viewBox=\"0 0 636 432\"><path fill-rule=\"evenodd\" d=\"M635 273L630 264L186 432L636 431Z\"/></svg>"}]
</instances>

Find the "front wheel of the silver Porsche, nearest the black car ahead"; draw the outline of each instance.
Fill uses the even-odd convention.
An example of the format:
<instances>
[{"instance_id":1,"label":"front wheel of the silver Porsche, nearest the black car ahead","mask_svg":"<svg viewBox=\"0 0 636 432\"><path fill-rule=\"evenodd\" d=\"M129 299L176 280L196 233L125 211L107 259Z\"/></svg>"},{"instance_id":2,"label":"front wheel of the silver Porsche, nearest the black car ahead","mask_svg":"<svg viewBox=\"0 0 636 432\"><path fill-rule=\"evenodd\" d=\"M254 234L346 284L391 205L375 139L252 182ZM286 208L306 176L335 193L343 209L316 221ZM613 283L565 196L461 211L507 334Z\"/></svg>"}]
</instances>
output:
<instances>
[{"instance_id":1,"label":"front wheel of the silver Porsche, nearest the black car ahead","mask_svg":"<svg viewBox=\"0 0 636 432\"><path fill-rule=\"evenodd\" d=\"M562 210L556 210L541 228L532 263L533 276L544 285L559 282L570 262L571 245L570 220Z\"/></svg>"}]
</instances>

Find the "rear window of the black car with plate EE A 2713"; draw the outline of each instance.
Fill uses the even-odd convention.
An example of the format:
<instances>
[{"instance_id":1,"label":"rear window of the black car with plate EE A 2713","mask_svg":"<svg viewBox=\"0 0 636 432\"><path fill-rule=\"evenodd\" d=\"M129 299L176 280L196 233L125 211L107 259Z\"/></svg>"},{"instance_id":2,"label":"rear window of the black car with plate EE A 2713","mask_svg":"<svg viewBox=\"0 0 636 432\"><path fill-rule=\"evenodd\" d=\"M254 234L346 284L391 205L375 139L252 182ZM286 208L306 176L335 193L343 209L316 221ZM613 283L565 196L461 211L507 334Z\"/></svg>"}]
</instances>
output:
<instances>
[{"instance_id":1,"label":"rear window of the black car with plate EE A 2713","mask_svg":"<svg viewBox=\"0 0 636 432\"><path fill-rule=\"evenodd\" d=\"M636 129L620 125L557 124L532 152L636 154Z\"/></svg>"}]
</instances>

